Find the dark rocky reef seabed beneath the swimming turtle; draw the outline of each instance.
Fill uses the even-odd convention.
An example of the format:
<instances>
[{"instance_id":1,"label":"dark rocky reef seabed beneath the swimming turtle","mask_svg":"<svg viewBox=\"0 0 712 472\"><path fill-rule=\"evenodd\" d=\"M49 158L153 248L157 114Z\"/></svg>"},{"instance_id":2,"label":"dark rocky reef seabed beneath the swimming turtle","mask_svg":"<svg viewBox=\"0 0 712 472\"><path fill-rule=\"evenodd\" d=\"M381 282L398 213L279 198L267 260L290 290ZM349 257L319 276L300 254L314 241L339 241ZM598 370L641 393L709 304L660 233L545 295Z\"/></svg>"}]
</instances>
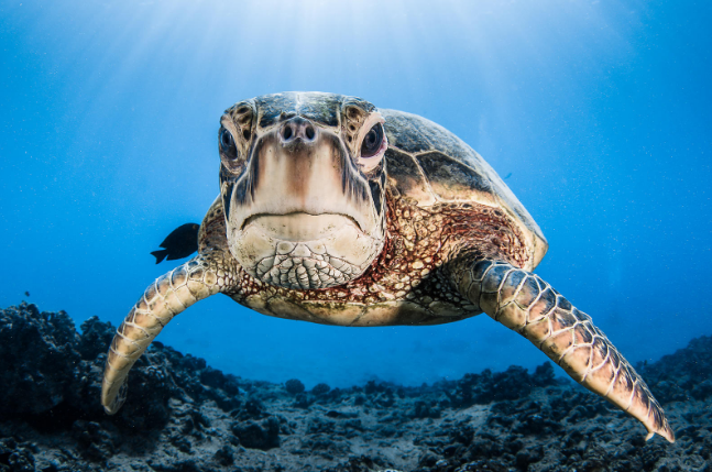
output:
<instances>
[{"instance_id":1,"label":"dark rocky reef seabed beneath the swimming turtle","mask_svg":"<svg viewBox=\"0 0 712 472\"><path fill-rule=\"evenodd\" d=\"M99 404L116 328L64 311L0 310L0 472L712 472L712 338L638 372L677 441L550 363L408 387L305 389L241 378L154 342L116 416ZM404 366L407 367L407 366Z\"/></svg>"}]
</instances>

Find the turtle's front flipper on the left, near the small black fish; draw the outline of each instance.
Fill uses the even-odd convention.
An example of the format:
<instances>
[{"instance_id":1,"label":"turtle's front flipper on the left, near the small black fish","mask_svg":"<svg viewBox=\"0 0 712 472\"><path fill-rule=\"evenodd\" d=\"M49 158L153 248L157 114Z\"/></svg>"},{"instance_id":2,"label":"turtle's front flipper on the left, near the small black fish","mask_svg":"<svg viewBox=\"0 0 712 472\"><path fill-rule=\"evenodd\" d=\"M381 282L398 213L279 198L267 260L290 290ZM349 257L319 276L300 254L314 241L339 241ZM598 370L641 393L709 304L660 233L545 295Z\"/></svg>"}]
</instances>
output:
<instances>
[{"instance_id":1,"label":"turtle's front flipper on the left, near the small black fish","mask_svg":"<svg viewBox=\"0 0 712 472\"><path fill-rule=\"evenodd\" d=\"M109 415L123 405L131 366L168 321L218 292L216 271L201 256L174 268L146 288L109 347L101 382L101 405Z\"/></svg>"}]
</instances>

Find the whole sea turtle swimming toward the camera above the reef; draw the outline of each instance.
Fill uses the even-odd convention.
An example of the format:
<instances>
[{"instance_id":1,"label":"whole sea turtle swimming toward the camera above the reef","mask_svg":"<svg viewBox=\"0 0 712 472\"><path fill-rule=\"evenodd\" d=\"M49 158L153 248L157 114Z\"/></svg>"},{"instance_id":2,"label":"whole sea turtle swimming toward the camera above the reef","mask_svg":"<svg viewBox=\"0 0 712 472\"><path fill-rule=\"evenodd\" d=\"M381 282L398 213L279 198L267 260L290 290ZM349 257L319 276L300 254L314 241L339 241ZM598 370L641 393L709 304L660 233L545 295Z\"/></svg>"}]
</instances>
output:
<instances>
[{"instance_id":1,"label":"whole sea turtle swimming toward the camera above the reef","mask_svg":"<svg viewBox=\"0 0 712 472\"><path fill-rule=\"evenodd\" d=\"M264 315L338 326L436 325L481 312L577 382L675 440L611 341L532 271L541 230L470 146L355 97L286 92L220 119L220 195L198 255L151 284L109 349L101 403L171 319L215 294Z\"/></svg>"}]
</instances>

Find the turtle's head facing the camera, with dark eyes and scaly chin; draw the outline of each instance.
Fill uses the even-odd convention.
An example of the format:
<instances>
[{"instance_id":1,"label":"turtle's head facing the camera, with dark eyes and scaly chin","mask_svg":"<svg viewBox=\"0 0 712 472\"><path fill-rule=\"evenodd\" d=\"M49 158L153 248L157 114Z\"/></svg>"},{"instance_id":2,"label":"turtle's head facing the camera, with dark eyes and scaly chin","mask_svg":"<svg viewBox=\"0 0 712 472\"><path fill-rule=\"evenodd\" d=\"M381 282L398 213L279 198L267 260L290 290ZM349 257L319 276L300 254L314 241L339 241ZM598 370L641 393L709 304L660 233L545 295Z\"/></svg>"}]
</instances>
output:
<instances>
[{"instance_id":1,"label":"turtle's head facing the camera, with dark eyes and scaly chin","mask_svg":"<svg viewBox=\"0 0 712 472\"><path fill-rule=\"evenodd\" d=\"M383 118L332 94L241 101L220 120L230 252L262 282L328 288L358 278L385 240Z\"/></svg>"}]
</instances>

